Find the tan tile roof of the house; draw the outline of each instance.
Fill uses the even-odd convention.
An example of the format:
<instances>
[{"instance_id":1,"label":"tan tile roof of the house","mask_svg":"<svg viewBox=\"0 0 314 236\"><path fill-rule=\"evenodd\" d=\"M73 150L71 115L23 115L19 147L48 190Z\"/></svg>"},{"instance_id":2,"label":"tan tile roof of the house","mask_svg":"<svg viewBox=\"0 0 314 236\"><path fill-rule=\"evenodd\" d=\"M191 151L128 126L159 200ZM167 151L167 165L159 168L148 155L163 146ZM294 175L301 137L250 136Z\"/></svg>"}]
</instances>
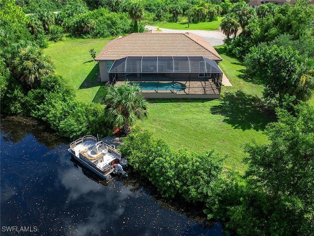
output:
<instances>
[{"instance_id":1,"label":"tan tile roof of the house","mask_svg":"<svg viewBox=\"0 0 314 236\"><path fill-rule=\"evenodd\" d=\"M222 60L204 38L193 33L162 33L150 30L118 37L105 45L95 60L125 57L205 57Z\"/></svg>"}]
</instances>

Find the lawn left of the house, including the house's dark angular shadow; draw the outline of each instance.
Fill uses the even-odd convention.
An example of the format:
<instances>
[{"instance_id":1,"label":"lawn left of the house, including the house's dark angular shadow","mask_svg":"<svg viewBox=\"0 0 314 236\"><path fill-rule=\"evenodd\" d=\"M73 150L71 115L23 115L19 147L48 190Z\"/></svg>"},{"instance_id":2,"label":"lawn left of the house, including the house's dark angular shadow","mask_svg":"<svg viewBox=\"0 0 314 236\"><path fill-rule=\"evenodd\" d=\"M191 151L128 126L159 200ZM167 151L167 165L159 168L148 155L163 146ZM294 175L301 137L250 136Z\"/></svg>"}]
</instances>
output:
<instances>
[{"instance_id":1,"label":"lawn left of the house, including the house's dark angular shadow","mask_svg":"<svg viewBox=\"0 0 314 236\"><path fill-rule=\"evenodd\" d=\"M72 86L81 101L98 101L96 95L103 91L103 84L97 82L96 74L99 66L91 57L89 50L94 49L98 54L108 39L66 39L64 41L51 43L45 49L45 54L51 56L55 72L61 75L65 81ZM95 99L96 98L96 99Z\"/></svg>"}]
</instances>

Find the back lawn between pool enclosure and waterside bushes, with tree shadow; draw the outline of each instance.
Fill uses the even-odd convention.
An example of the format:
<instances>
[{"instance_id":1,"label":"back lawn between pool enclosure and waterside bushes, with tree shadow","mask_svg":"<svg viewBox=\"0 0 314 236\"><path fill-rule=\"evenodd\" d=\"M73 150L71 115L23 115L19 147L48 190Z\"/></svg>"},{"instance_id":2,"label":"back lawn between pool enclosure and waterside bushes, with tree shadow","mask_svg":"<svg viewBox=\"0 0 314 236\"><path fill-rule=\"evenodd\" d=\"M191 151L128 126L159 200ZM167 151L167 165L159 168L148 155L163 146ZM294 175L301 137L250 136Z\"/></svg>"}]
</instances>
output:
<instances>
[{"instance_id":1,"label":"back lawn between pool enclosure and waterside bushes, with tree shadow","mask_svg":"<svg viewBox=\"0 0 314 236\"><path fill-rule=\"evenodd\" d=\"M267 142L262 131L269 119L258 111L254 101L243 93L226 100L150 100L149 118L136 125L152 131L175 149L215 149L228 155L227 169L242 172L246 155L242 145L252 140ZM231 111L230 106L234 106Z\"/></svg>"}]
</instances>

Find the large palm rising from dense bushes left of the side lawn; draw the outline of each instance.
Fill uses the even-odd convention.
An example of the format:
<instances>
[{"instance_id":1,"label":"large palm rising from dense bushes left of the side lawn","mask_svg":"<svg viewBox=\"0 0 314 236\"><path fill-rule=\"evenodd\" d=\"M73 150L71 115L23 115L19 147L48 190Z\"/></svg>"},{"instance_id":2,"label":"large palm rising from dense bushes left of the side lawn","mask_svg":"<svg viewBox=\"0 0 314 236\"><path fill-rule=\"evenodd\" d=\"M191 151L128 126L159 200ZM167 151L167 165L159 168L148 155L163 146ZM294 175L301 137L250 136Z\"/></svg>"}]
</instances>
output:
<instances>
[{"instance_id":1,"label":"large palm rising from dense bushes left of the side lawn","mask_svg":"<svg viewBox=\"0 0 314 236\"><path fill-rule=\"evenodd\" d=\"M14 75L30 87L52 72L52 61L35 46L20 48L13 60Z\"/></svg>"}]
</instances>

